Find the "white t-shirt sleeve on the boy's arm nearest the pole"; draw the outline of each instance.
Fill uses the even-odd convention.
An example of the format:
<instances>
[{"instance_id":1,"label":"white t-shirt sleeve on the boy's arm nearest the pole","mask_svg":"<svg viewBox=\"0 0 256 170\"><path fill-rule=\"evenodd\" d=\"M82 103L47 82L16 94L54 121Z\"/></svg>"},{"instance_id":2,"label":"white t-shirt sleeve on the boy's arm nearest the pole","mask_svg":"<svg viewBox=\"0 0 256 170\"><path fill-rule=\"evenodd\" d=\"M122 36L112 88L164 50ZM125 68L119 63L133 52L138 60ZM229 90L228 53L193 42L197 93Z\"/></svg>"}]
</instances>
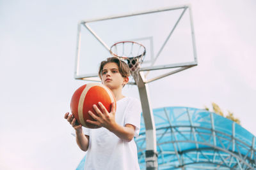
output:
<instances>
[{"instance_id":1,"label":"white t-shirt sleeve on the boy's arm nearest the pole","mask_svg":"<svg viewBox=\"0 0 256 170\"><path fill-rule=\"evenodd\" d=\"M138 99L132 99L129 102L129 105L126 110L125 114L125 121L124 124L131 124L134 125L135 132L134 136L138 137L140 134L140 117L141 117L141 104Z\"/></svg>"}]
</instances>

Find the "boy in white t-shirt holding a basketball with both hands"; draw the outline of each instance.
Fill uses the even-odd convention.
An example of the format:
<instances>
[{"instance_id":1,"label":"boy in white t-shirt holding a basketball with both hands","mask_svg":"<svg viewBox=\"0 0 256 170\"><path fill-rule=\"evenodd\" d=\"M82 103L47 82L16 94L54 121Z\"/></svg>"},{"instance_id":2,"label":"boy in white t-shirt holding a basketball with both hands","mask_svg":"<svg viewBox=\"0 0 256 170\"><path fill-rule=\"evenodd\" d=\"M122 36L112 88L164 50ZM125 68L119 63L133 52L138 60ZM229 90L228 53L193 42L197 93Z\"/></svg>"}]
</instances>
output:
<instances>
[{"instance_id":1,"label":"boy in white t-shirt holding a basketball with both hands","mask_svg":"<svg viewBox=\"0 0 256 170\"><path fill-rule=\"evenodd\" d=\"M99 129L83 129L77 125L76 118L65 114L65 118L76 130L77 145L87 151L85 169L116 169L136 170L138 164L137 147L134 136L140 132L141 105L137 99L125 97L122 88L129 81L129 66L117 57L111 57L101 62L99 76L102 84L112 90L116 98L116 106L111 105L111 112L99 103L102 112L93 106L99 115L92 111L88 113L95 121L88 123L100 126ZM116 111L115 111L116 108Z\"/></svg>"}]
</instances>

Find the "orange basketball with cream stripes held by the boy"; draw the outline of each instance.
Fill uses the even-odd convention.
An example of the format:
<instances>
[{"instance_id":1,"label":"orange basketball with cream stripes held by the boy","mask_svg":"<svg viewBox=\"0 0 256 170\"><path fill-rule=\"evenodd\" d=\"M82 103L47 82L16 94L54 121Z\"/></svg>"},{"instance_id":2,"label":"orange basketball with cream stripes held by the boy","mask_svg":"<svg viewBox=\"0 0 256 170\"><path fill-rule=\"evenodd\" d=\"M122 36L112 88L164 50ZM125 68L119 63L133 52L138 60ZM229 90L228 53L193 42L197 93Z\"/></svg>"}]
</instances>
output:
<instances>
[{"instance_id":1,"label":"orange basketball with cream stripes held by the boy","mask_svg":"<svg viewBox=\"0 0 256 170\"><path fill-rule=\"evenodd\" d=\"M115 102L116 104L116 99L112 91L105 85L100 83L88 83L83 85L79 87L72 96L70 103L72 115L76 118L77 122L84 127L92 129L99 128L97 125L86 122L86 120L94 120L88 114L89 110L97 115L93 110L93 104L96 104L99 110L101 110L98 104L99 102L110 112L111 103Z\"/></svg>"}]
</instances>

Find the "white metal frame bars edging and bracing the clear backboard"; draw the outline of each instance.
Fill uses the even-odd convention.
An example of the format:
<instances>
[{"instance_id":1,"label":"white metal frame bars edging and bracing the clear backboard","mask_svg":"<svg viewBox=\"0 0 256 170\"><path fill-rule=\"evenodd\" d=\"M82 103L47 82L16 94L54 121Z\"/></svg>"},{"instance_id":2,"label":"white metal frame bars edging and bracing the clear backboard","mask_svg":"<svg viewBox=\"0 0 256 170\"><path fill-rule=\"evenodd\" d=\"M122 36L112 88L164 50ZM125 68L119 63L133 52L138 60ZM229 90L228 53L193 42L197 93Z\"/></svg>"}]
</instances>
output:
<instances>
[{"instance_id":1,"label":"white metal frame bars edging and bracing the clear backboard","mask_svg":"<svg viewBox=\"0 0 256 170\"><path fill-rule=\"evenodd\" d=\"M144 83L150 83L152 81L158 80L160 78L164 78L164 77L169 76L171 74L178 73L178 72L183 71L185 69L188 69L190 67L197 66L196 46L195 46L195 31L194 31L194 27L193 27L191 7L190 7L189 4L187 4L187 5L175 6L175 7L169 7L169 8L161 8L161 9L155 9L155 10L128 13L128 14L125 14L125 15L116 15L116 16L109 16L109 17L104 17L104 18L95 18L95 19L92 19L92 20L81 20L78 23L78 26L77 26L77 49L76 49L76 65L75 65L74 78L76 80L100 81L100 78L99 78L97 73L93 73L93 74L80 74L79 73L79 57L80 57L80 50L81 50L81 27L83 27L83 26L86 27L86 29L88 29L88 31L95 37L95 39L97 39L97 41L99 41L102 44L102 46L104 46L104 48L106 48L106 50L109 51L110 47L97 35L97 32L93 31L93 29L88 25L88 23L97 22L97 21L100 21L100 20L111 20L111 19L115 19L115 18L124 18L124 17L135 16L135 15L145 15L145 14L148 14L148 13L159 13L159 12L162 12L162 11L180 10L180 9L182 9L183 11L180 14L177 22L175 23L175 25L171 29L170 34L168 35L168 37L164 41L163 45L161 46L161 49L159 50L159 52L157 52L156 57L154 57L154 61L152 62L152 66L141 67L140 72L141 71L154 71L154 70L159 70L159 69L171 69L171 68L173 68L172 71L169 71L168 73L160 74L159 76L156 76L154 78L150 78L149 80L147 80L147 78L143 79ZM186 10L189 10L189 22L190 22L190 27L191 27L190 29L191 29L191 39L192 39L191 43L192 43L192 46L193 46L193 58L194 58L194 60L192 62L180 62L180 63L175 63L175 64L165 64L165 65L161 65L161 66L154 66L154 62L157 60L157 58L161 54L161 52L162 52L163 48L165 47L168 39L170 39L170 37L172 36L173 31L175 30L175 28L179 24L179 21L183 17ZM136 85L135 82L129 82L129 84Z\"/></svg>"}]
</instances>

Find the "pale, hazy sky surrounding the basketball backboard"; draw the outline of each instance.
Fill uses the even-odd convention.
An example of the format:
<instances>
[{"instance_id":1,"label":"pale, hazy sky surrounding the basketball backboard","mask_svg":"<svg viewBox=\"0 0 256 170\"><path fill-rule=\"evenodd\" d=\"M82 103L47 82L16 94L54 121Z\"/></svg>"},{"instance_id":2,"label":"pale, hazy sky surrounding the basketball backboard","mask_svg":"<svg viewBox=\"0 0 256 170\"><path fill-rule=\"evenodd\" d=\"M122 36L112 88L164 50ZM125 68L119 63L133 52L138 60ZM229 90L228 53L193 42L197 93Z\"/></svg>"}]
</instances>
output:
<instances>
[{"instance_id":1,"label":"pale, hazy sky surrounding the basketball backboard","mask_svg":"<svg viewBox=\"0 0 256 170\"><path fill-rule=\"evenodd\" d=\"M63 118L85 83L74 80L79 20L188 3L198 66L150 83L152 108L215 102L256 135L254 0L2 0L0 169L75 169L82 159ZM138 97L138 90L125 87L124 94Z\"/></svg>"}]
</instances>

